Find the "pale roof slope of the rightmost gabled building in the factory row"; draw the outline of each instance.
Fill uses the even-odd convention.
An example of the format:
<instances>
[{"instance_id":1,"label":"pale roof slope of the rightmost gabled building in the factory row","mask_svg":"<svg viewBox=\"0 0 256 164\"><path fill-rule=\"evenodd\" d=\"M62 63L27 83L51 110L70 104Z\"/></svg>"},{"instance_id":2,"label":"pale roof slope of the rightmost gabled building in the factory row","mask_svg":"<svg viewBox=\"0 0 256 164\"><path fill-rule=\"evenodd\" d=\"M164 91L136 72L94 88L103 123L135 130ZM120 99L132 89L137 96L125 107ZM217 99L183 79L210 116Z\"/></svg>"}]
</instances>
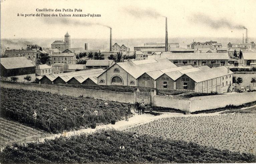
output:
<instances>
[{"instance_id":1,"label":"pale roof slope of the rightmost gabled building in the factory row","mask_svg":"<svg viewBox=\"0 0 256 164\"><path fill-rule=\"evenodd\" d=\"M195 82L203 82L206 80L214 79L214 78L219 78L222 76L227 76L234 74L232 71L229 71L228 73L228 68L225 66L222 67L216 67L212 69L207 69L207 70L201 70L197 72L191 72L186 74L188 77L190 77L192 80Z\"/></svg>"}]
</instances>

